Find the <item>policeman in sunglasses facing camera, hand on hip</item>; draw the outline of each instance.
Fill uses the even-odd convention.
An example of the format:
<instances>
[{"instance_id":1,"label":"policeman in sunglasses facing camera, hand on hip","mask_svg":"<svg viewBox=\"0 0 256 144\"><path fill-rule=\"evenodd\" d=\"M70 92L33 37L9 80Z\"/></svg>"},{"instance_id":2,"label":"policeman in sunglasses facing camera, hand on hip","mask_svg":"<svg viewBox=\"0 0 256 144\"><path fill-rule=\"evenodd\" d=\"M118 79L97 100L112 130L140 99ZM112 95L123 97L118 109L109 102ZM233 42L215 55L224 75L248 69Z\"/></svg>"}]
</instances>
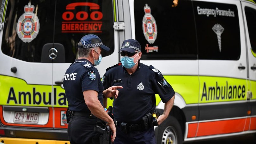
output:
<instances>
[{"instance_id":1,"label":"policeman in sunglasses facing camera, hand on hip","mask_svg":"<svg viewBox=\"0 0 256 144\"><path fill-rule=\"evenodd\" d=\"M113 116L117 121L115 144L156 143L152 119L145 121L155 110L155 94L165 103L164 112L157 118L158 125L169 115L174 104L175 92L161 72L153 66L140 63L141 46L137 40L125 40L120 49L122 65L106 70L104 88L123 86L114 97ZM152 117L152 115L151 115Z\"/></svg>"}]
</instances>

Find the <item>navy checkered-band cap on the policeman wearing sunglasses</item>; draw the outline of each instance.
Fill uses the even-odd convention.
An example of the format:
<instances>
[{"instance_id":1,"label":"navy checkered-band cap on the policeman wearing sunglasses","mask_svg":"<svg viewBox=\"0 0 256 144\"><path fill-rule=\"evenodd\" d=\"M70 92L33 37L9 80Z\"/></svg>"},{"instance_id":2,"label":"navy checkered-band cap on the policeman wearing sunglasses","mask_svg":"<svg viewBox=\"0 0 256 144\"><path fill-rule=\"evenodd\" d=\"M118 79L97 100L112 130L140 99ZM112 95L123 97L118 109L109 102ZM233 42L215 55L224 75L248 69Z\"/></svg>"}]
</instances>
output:
<instances>
[{"instance_id":1,"label":"navy checkered-band cap on the policeman wearing sunglasses","mask_svg":"<svg viewBox=\"0 0 256 144\"><path fill-rule=\"evenodd\" d=\"M128 52L139 51L140 52L141 51L140 43L135 39L127 39L123 42L120 51L128 51Z\"/></svg>"}]
</instances>

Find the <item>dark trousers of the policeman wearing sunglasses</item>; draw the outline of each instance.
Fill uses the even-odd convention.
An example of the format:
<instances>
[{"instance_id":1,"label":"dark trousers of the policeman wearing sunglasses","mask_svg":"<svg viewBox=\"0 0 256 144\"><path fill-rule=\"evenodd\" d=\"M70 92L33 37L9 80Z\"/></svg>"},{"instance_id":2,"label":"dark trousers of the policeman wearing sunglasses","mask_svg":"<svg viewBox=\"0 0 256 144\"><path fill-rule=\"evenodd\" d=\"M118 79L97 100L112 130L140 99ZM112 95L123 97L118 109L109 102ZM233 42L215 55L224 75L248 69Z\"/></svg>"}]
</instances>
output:
<instances>
[{"instance_id":1,"label":"dark trousers of the policeman wearing sunglasses","mask_svg":"<svg viewBox=\"0 0 256 144\"><path fill-rule=\"evenodd\" d=\"M116 126L114 144L156 144L155 129L150 127L145 131L130 131L125 134L120 126Z\"/></svg>"}]
</instances>

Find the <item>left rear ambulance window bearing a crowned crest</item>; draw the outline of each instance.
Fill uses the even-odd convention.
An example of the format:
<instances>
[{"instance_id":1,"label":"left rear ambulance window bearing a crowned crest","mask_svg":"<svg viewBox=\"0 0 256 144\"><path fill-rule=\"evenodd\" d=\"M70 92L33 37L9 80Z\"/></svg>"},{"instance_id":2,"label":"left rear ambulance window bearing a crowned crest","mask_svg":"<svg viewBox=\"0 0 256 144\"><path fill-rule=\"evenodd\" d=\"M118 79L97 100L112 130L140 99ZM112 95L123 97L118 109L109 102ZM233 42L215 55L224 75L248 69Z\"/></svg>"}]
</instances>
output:
<instances>
[{"instance_id":1,"label":"left rear ambulance window bearing a crowned crest","mask_svg":"<svg viewBox=\"0 0 256 144\"><path fill-rule=\"evenodd\" d=\"M33 13L28 11L28 1L8 1L2 51L19 60L40 62L43 45L53 43L55 1L32 1L32 5Z\"/></svg>"}]
</instances>

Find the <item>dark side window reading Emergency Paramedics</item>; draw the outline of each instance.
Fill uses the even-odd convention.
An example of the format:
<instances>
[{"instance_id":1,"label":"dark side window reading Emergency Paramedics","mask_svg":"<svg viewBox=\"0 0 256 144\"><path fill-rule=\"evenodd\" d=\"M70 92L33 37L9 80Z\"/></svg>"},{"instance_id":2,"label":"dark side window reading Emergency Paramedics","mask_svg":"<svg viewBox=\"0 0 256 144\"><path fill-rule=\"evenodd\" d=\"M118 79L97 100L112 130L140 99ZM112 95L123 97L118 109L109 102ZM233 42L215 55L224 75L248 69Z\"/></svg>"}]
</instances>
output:
<instances>
[{"instance_id":1,"label":"dark side window reading Emergency Paramedics","mask_svg":"<svg viewBox=\"0 0 256 144\"><path fill-rule=\"evenodd\" d=\"M236 5L193 1L199 59L238 60L241 54Z\"/></svg>"}]
</instances>

